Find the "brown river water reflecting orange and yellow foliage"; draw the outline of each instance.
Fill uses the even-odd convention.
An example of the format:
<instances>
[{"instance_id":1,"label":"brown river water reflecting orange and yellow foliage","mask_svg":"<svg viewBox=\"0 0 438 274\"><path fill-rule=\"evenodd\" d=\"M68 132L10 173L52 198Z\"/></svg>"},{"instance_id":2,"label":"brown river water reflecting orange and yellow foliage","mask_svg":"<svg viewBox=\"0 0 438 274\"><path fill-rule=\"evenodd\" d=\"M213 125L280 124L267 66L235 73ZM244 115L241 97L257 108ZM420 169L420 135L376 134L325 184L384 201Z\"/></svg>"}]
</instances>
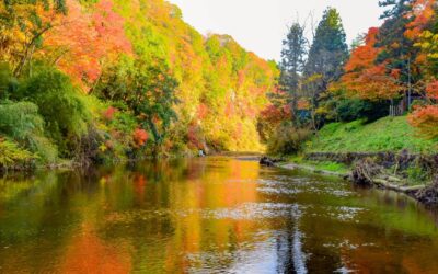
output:
<instances>
[{"instance_id":1,"label":"brown river water reflecting orange and yellow foliage","mask_svg":"<svg viewBox=\"0 0 438 274\"><path fill-rule=\"evenodd\" d=\"M0 273L438 273L392 192L208 158L0 179Z\"/></svg>"}]
</instances>

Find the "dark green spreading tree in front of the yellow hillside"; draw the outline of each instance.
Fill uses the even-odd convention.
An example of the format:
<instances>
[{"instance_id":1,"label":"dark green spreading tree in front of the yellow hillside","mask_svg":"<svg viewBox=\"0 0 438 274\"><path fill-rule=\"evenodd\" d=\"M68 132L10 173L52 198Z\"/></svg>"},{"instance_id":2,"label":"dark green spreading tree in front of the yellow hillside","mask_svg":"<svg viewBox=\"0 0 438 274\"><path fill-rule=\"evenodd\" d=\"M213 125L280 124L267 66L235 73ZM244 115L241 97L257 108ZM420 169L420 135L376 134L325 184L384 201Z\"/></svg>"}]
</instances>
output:
<instances>
[{"instance_id":1,"label":"dark green spreading tree in front of the yellow hillside","mask_svg":"<svg viewBox=\"0 0 438 274\"><path fill-rule=\"evenodd\" d=\"M127 58L103 77L95 93L106 100L120 102L134 112L142 128L152 133L154 152L166 138L171 123L177 118L173 107L177 81L162 60L148 64Z\"/></svg>"}]
</instances>

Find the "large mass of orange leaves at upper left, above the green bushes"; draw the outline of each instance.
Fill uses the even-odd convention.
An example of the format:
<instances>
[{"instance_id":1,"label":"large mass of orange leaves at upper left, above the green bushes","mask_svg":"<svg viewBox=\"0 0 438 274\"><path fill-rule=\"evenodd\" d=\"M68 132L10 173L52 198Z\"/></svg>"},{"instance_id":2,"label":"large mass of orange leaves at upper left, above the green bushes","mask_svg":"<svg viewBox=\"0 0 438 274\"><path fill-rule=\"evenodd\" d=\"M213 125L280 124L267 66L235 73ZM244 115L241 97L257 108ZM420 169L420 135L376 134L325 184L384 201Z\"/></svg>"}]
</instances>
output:
<instances>
[{"instance_id":1,"label":"large mass of orange leaves at upper left, above the green bushes","mask_svg":"<svg viewBox=\"0 0 438 274\"><path fill-rule=\"evenodd\" d=\"M92 13L74 0L67 5L68 14L45 37L45 54L76 82L88 85L101 75L104 59L131 53L131 46L110 0L97 2Z\"/></svg>"}]
</instances>

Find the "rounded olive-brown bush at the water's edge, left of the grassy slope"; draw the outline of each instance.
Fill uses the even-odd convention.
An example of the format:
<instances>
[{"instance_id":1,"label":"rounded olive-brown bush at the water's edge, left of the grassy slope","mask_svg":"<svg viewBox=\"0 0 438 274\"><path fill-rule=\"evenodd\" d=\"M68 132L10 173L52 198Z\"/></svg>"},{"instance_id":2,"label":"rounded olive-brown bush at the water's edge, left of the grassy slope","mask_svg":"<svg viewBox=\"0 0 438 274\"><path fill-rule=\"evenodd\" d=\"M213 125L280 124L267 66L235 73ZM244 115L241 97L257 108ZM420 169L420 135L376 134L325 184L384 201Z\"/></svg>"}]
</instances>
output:
<instances>
[{"instance_id":1,"label":"rounded olive-brown bush at the water's edge, left of the grassy slope","mask_svg":"<svg viewBox=\"0 0 438 274\"><path fill-rule=\"evenodd\" d=\"M267 151L269 155L295 155L311 135L312 132L308 128L297 128L289 123L281 124L268 141Z\"/></svg>"}]
</instances>

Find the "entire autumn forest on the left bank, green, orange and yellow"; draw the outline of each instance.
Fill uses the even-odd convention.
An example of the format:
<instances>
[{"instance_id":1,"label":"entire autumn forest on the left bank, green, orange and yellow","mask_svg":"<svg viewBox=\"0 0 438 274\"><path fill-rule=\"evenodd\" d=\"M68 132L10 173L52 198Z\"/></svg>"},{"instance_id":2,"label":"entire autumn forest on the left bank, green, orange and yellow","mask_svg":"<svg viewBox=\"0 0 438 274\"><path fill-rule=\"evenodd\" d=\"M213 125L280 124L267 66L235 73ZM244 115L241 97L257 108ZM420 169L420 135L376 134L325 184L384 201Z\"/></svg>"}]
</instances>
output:
<instances>
[{"instance_id":1,"label":"entire autumn forest on the left bank, green, orange and yellow","mask_svg":"<svg viewBox=\"0 0 438 274\"><path fill-rule=\"evenodd\" d=\"M3 168L261 150L276 64L177 7L4 0L0 20Z\"/></svg>"}]
</instances>

